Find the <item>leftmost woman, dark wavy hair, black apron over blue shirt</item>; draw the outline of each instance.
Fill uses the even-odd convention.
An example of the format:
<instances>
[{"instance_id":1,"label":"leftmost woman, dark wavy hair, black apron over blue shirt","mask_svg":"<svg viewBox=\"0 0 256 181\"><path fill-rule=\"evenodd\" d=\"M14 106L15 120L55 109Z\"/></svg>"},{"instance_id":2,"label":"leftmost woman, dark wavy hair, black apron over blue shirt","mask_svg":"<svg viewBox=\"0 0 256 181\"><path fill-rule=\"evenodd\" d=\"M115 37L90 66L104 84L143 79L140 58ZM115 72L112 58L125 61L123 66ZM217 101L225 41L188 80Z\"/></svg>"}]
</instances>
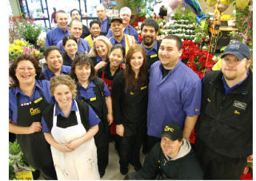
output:
<instances>
[{"instance_id":1,"label":"leftmost woman, dark wavy hair, black apron over blue shirt","mask_svg":"<svg viewBox=\"0 0 256 181\"><path fill-rule=\"evenodd\" d=\"M42 111L53 104L49 81L43 80L38 61L20 55L10 66L14 84L9 90L9 132L16 134L27 163L45 179L57 179L50 145L42 134Z\"/></svg>"}]
</instances>

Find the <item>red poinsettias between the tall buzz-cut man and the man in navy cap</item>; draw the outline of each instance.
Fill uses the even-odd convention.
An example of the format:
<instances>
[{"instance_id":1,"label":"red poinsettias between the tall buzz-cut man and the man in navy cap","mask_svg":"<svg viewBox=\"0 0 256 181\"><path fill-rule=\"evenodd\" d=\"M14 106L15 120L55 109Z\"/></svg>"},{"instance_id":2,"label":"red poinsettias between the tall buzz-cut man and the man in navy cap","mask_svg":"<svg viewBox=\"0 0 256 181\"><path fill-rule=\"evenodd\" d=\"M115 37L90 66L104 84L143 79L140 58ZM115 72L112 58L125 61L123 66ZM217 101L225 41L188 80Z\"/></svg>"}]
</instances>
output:
<instances>
[{"instance_id":1,"label":"red poinsettias between the tall buzz-cut man and the man in navy cap","mask_svg":"<svg viewBox=\"0 0 256 181\"><path fill-rule=\"evenodd\" d=\"M213 55L207 50L198 49L193 41L185 40L182 42L182 61L197 73L200 79L205 72L212 69L217 61L212 61Z\"/></svg>"}]
</instances>

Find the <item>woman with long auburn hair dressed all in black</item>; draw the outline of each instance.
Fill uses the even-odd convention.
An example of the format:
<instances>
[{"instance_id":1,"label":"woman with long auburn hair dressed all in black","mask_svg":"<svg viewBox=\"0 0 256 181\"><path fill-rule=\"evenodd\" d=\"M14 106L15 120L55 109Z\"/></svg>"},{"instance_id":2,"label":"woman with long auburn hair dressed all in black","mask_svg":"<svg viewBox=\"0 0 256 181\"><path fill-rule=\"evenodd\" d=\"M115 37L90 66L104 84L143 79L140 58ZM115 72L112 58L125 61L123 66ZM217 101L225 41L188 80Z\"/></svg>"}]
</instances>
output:
<instances>
[{"instance_id":1,"label":"woman with long auburn hair dressed all in black","mask_svg":"<svg viewBox=\"0 0 256 181\"><path fill-rule=\"evenodd\" d=\"M142 45L132 45L126 55L126 69L114 78L112 99L114 122L119 136L120 172L126 175L128 164L138 171L142 165L139 150L146 132L148 76L146 53Z\"/></svg>"}]
</instances>

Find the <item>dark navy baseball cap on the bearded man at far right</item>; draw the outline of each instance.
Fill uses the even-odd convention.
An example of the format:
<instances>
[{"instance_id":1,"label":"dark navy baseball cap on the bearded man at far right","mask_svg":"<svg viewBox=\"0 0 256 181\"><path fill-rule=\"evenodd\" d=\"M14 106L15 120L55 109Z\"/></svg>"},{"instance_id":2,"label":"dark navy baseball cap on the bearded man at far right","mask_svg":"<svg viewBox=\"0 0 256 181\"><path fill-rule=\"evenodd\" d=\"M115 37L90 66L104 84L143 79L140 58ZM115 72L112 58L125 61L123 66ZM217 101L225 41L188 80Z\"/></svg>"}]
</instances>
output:
<instances>
[{"instance_id":1,"label":"dark navy baseball cap on the bearded man at far right","mask_svg":"<svg viewBox=\"0 0 256 181\"><path fill-rule=\"evenodd\" d=\"M222 57L225 57L226 54L232 54L235 57L238 57L239 61L245 57L247 60L250 60L250 48L244 43L235 42L228 45L224 50Z\"/></svg>"}]
</instances>

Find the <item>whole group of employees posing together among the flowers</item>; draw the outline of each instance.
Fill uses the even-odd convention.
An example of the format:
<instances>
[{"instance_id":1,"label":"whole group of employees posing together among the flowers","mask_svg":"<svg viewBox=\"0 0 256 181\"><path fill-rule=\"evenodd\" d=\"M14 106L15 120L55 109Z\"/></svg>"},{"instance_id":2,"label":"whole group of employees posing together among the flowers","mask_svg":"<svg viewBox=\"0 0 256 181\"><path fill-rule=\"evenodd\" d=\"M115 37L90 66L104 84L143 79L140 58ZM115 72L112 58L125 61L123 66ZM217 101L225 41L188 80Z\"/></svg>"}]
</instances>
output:
<instances>
[{"instance_id":1,"label":"whole group of employees posing together among the flowers","mask_svg":"<svg viewBox=\"0 0 256 181\"><path fill-rule=\"evenodd\" d=\"M200 80L181 61L179 37L157 40L154 19L139 42L128 7L120 18L96 10L89 29L78 10L69 26L58 10L45 69L27 54L10 65L9 132L27 163L44 179L100 179L114 140L125 179L239 179L252 155L249 47L228 45L222 69Z\"/></svg>"}]
</instances>

